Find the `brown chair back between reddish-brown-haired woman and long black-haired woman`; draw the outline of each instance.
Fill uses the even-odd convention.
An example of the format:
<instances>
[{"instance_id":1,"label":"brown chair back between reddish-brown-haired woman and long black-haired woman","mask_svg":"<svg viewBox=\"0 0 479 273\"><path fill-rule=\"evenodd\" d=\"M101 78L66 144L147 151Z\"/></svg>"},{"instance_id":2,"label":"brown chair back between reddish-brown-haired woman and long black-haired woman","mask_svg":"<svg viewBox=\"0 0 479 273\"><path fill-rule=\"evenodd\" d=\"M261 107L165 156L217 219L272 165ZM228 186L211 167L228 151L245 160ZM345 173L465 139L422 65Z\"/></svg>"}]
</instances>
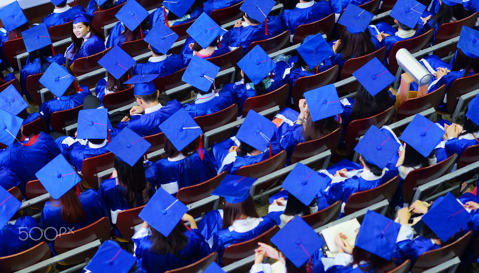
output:
<instances>
[{"instance_id":1,"label":"brown chair back between reddish-brown-haired woman and long black-haired woman","mask_svg":"<svg viewBox=\"0 0 479 273\"><path fill-rule=\"evenodd\" d=\"M114 153L108 152L84 159L81 163L81 174L85 179L86 185L83 186L98 188L97 174L113 168L114 157Z\"/></svg>"}]
</instances>

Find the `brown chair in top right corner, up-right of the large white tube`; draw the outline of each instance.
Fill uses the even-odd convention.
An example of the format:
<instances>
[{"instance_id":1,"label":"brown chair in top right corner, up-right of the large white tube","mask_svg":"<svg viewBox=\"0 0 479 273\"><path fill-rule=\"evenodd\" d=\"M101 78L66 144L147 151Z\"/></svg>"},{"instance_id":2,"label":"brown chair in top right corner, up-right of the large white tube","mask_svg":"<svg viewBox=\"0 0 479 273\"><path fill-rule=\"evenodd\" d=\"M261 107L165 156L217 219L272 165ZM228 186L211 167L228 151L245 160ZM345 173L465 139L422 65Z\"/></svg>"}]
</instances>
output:
<instances>
[{"instance_id":1,"label":"brown chair in top right corner, up-right of the large white tube","mask_svg":"<svg viewBox=\"0 0 479 273\"><path fill-rule=\"evenodd\" d=\"M452 38L456 38L461 34L462 26L468 26L470 28L474 27L478 19L478 12L472 14L471 16L464 18L462 20L450 23L444 23L439 26L437 29L436 35L434 35L434 44L440 44ZM455 52L457 47L457 42L446 47L434 50L434 55L443 56L448 55L449 52Z\"/></svg>"}]
</instances>

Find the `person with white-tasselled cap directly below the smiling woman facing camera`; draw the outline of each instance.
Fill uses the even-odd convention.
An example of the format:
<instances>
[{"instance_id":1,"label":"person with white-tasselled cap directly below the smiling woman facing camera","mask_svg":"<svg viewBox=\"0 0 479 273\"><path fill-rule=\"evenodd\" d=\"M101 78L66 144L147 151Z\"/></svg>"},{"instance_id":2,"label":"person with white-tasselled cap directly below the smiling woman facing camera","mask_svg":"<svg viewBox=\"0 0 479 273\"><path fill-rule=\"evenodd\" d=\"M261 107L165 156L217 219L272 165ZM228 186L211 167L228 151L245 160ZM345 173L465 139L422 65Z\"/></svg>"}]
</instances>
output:
<instances>
[{"instance_id":1,"label":"person with white-tasselled cap directly below the smiling woman facing camera","mask_svg":"<svg viewBox=\"0 0 479 273\"><path fill-rule=\"evenodd\" d=\"M57 63L52 63L39 81L56 97L40 105L40 114L47 125L50 124L53 112L80 106L83 104L83 98L91 95L86 85L78 86L75 77L68 72L67 68Z\"/></svg>"}]
</instances>

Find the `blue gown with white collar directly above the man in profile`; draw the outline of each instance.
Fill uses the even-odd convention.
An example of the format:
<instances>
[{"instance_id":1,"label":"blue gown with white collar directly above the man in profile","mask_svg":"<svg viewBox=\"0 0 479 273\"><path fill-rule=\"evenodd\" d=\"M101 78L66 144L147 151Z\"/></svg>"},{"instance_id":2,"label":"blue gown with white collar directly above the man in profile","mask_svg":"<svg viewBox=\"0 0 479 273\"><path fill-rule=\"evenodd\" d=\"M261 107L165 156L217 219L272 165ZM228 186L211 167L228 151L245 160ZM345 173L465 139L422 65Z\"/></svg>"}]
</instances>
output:
<instances>
[{"instance_id":1,"label":"blue gown with white collar directly above the man in profile","mask_svg":"<svg viewBox=\"0 0 479 273\"><path fill-rule=\"evenodd\" d=\"M179 55L170 54L166 59L160 62L150 62L137 64L133 67L131 74L160 74L159 77L168 76L183 68L182 60Z\"/></svg>"}]
</instances>

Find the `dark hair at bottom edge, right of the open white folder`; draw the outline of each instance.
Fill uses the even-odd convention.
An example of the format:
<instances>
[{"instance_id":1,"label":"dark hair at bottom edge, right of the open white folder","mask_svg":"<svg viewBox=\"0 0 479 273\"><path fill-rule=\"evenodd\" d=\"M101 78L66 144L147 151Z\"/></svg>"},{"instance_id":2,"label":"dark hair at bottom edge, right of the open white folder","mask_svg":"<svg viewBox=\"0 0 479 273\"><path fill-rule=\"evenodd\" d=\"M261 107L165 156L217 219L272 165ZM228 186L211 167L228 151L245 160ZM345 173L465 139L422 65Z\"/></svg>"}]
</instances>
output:
<instances>
[{"instance_id":1,"label":"dark hair at bottom edge, right of the open white folder","mask_svg":"<svg viewBox=\"0 0 479 273\"><path fill-rule=\"evenodd\" d=\"M369 251L365 251L360 247L355 246L353 248L353 262L351 264L357 264L358 266L362 261L367 262L367 266L360 267L363 272L368 272L373 269L373 273L386 273L396 268L396 263L383 259Z\"/></svg>"}]
</instances>

